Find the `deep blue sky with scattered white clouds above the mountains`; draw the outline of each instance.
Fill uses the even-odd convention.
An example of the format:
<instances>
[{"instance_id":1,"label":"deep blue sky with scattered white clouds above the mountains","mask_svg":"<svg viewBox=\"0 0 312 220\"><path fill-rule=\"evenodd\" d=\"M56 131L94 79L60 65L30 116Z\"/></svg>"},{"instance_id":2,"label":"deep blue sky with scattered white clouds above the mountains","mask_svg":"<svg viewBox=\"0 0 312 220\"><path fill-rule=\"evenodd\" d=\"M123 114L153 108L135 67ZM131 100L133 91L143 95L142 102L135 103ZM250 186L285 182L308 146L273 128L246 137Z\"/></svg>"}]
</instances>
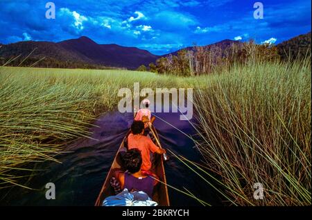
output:
<instances>
[{"instance_id":1,"label":"deep blue sky with scattered white clouds above the mountains","mask_svg":"<svg viewBox=\"0 0 312 220\"><path fill-rule=\"evenodd\" d=\"M277 44L311 31L310 0L261 1L263 19L254 19L250 0L52 1L55 19L45 17L47 2L0 0L0 42L84 35L160 55L225 39Z\"/></svg>"}]
</instances>

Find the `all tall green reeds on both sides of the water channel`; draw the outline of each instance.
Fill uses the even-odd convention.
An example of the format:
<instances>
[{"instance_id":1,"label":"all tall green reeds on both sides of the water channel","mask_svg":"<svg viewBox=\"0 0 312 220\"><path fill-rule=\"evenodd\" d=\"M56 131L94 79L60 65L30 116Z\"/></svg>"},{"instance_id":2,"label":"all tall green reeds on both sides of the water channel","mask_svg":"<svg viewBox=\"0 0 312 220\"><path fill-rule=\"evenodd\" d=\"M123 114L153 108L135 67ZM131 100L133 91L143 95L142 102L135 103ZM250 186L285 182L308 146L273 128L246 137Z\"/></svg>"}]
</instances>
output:
<instances>
[{"instance_id":1,"label":"all tall green reeds on both sides of the water channel","mask_svg":"<svg viewBox=\"0 0 312 220\"><path fill-rule=\"evenodd\" d=\"M280 61L268 50L251 47L241 60L220 60L202 74L187 72L184 60L187 74L168 63L171 74L0 67L0 189L31 187L19 182L20 170L88 137L96 117L116 110L119 88L139 82L194 88L194 126L203 139L195 141L205 162L176 156L202 181L218 176L214 188L225 205L311 205L311 51ZM263 200L254 199L254 183L263 185Z\"/></svg>"}]
</instances>

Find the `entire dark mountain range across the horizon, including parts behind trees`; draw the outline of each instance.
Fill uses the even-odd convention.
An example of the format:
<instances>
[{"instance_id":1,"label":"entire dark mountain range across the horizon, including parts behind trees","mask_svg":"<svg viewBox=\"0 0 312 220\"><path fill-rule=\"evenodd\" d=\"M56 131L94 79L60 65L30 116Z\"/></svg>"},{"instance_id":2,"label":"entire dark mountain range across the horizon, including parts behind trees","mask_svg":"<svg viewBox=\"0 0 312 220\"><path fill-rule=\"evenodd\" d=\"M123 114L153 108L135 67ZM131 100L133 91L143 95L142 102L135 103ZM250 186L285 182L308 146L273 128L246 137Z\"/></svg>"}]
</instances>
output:
<instances>
[{"instance_id":1,"label":"entire dark mountain range across the horizon, including parts behind trees","mask_svg":"<svg viewBox=\"0 0 312 220\"><path fill-rule=\"evenodd\" d=\"M240 43L234 40L223 40L209 44L209 46L219 46L221 49L226 49L232 44ZM308 46L311 46L311 32L277 44L279 53L285 53L284 51L296 53L296 50L304 51ZM185 49L190 50L192 46ZM31 53L32 51L33 53ZM177 52L175 51L171 54L177 55ZM155 62L163 56L168 56L168 54L157 56L137 47L97 44L89 37L79 37L78 39L56 43L23 41L14 44L0 44L0 58L2 60L15 58L19 55L21 55L20 60L23 60L30 53L31 56L28 59L40 60L45 58L44 65L39 63L37 65L39 67L55 67L55 62L57 62L58 64L67 63L65 67L118 67L126 69L137 69L140 65L148 66L150 62ZM76 65L77 63L80 65ZM60 65L60 67L63 67L63 65Z\"/></svg>"}]
</instances>

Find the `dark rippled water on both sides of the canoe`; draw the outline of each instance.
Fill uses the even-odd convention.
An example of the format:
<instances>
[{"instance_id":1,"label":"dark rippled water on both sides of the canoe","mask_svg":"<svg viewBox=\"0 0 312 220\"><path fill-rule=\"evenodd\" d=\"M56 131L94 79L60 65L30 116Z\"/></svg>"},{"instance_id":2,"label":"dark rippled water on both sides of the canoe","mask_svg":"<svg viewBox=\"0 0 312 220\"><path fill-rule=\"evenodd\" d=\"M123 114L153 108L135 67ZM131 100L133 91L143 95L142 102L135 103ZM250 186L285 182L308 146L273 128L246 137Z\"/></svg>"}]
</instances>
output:
<instances>
[{"instance_id":1,"label":"dark rippled water on both sides of the canoe","mask_svg":"<svg viewBox=\"0 0 312 220\"><path fill-rule=\"evenodd\" d=\"M155 115L184 133L189 135L196 133L188 121L180 121L177 113L155 113ZM71 153L58 156L61 164L44 162L36 165L36 169L46 169L38 172L29 181L29 185L38 190L19 187L1 189L0 205L94 205L132 119L130 113L107 113L96 121L95 125L98 127L92 128L94 139L81 139L68 146L66 151ZM194 149L193 141L180 131L160 119L155 121L155 128L165 149L171 149L174 153L194 162L202 160L200 153ZM171 160L165 163L165 170L169 185L179 189L186 187L207 203L220 205L213 189L176 158L171 157ZM55 200L45 198L45 185L49 182L55 184ZM198 201L174 189L168 188L168 192L171 205L200 205Z\"/></svg>"}]
</instances>

